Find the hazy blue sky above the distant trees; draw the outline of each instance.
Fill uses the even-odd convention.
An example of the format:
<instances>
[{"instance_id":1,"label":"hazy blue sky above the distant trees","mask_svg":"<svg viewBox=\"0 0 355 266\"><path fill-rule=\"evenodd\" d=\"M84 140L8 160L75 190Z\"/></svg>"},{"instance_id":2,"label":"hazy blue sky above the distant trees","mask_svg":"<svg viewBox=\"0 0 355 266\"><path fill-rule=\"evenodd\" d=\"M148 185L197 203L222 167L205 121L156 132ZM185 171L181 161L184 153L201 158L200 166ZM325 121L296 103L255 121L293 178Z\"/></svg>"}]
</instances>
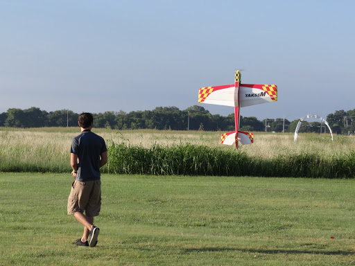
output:
<instances>
[{"instance_id":1,"label":"hazy blue sky above the distant trees","mask_svg":"<svg viewBox=\"0 0 355 266\"><path fill-rule=\"evenodd\" d=\"M0 0L0 112L186 109L198 89L275 84L242 116L355 109L355 1ZM201 105L226 116L232 107Z\"/></svg>"}]
</instances>

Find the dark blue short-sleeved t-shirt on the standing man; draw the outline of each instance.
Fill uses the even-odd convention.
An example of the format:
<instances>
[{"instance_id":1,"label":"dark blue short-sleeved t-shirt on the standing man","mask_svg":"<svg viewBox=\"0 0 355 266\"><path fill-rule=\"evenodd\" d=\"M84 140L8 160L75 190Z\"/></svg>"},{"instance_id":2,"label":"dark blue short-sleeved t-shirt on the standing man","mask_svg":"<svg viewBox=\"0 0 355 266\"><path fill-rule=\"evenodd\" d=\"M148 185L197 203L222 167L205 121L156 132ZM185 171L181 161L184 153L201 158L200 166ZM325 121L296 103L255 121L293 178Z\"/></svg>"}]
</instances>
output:
<instances>
[{"instance_id":1,"label":"dark blue short-sleeved t-shirt on the standing man","mask_svg":"<svg viewBox=\"0 0 355 266\"><path fill-rule=\"evenodd\" d=\"M106 144L101 136L91 131L81 132L71 141L70 152L78 155L78 181L94 181L101 178L100 154L107 152Z\"/></svg>"}]
</instances>

